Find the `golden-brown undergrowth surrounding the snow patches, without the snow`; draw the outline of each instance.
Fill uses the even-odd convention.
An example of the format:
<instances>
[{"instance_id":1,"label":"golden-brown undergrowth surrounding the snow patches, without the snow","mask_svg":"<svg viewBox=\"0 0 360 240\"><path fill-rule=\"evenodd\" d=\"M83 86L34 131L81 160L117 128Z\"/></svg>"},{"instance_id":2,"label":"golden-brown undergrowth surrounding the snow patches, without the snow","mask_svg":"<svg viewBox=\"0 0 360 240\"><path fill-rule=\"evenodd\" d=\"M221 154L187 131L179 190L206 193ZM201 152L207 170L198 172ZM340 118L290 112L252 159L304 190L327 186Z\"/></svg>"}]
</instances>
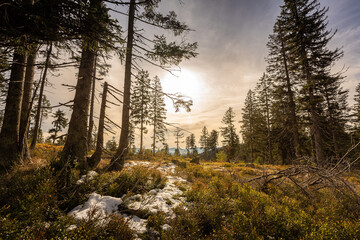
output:
<instances>
[{"instance_id":1,"label":"golden-brown undergrowth surrounding the snow patches, without the snow","mask_svg":"<svg viewBox=\"0 0 360 240\"><path fill-rule=\"evenodd\" d=\"M266 189L245 183L261 175L264 165L214 162L204 166L180 160L187 162L176 169L189 181L182 186L186 203L174 209L174 218L161 212L150 215L150 231L143 239L360 239L359 205L341 192L323 189L309 198L287 182L269 184ZM67 212L93 192L122 197L163 188L166 183L161 172L141 166L76 184L79 177L65 196L59 196L48 164L19 167L0 176L0 239L133 239L134 232L119 215L99 224L91 216L75 221ZM360 182L358 174L346 177L354 184Z\"/></svg>"}]
</instances>

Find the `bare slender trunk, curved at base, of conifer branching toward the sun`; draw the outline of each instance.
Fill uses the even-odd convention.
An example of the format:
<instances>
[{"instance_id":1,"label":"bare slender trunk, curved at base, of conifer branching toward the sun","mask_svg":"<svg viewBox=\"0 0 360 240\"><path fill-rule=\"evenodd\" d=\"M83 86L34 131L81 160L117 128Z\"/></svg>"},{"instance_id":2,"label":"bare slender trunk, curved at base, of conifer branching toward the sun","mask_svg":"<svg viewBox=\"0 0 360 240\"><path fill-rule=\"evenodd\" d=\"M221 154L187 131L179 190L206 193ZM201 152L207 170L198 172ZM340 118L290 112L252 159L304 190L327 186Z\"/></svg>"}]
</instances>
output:
<instances>
[{"instance_id":1,"label":"bare slender trunk, curved at base, of conifer branching toward the sun","mask_svg":"<svg viewBox=\"0 0 360 240\"><path fill-rule=\"evenodd\" d=\"M125 79L124 79L124 100L122 110L122 123L119 147L114 157L111 159L109 170L121 170L124 167L125 156L129 150L129 111L130 111L130 87L131 87L131 67L132 51L134 41L134 20L135 20L136 1L130 1L128 37L126 46Z\"/></svg>"}]
</instances>

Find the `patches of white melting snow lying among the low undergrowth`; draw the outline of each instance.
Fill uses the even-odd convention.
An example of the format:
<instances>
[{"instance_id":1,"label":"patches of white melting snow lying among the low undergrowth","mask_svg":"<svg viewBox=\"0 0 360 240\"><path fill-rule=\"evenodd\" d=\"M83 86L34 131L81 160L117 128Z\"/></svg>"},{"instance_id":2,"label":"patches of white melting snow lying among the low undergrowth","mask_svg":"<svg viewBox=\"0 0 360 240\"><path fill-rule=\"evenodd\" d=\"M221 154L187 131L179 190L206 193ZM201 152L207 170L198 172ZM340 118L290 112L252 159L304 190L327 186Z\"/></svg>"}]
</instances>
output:
<instances>
[{"instance_id":1,"label":"patches of white melting snow lying among the low undergrowth","mask_svg":"<svg viewBox=\"0 0 360 240\"><path fill-rule=\"evenodd\" d=\"M144 161L130 161L127 162L125 166L133 167L149 164L149 162ZM176 182L187 183L187 181L181 177L171 176L171 174L175 173L175 168L175 164L172 163L157 167L159 171L167 175L167 182L163 189L152 189L143 195L137 194L130 197L124 195L122 198L101 196L97 193L92 193L87 202L74 208L69 212L69 215L74 216L76 219L86 219L90 217L91 211L96 208L97 211L94 217L103 219L109 214L118 213L118 206L124 203L134 210L148 210L151 213L162 211L169 217L174 217L173 208L185 201L184 197L182 197L183 191L176 186ZM97 175L97 173L95 173L96 172L92 171L82 176L78 184L91 180ZM127 220L129 227L137 233L144 233L146 231L146 219L141 219L138 216L128 216L126 214L122 216ZM164 230L169 228L170 226L167 224L163 226Z\"/></svg>"}]
</instances>

